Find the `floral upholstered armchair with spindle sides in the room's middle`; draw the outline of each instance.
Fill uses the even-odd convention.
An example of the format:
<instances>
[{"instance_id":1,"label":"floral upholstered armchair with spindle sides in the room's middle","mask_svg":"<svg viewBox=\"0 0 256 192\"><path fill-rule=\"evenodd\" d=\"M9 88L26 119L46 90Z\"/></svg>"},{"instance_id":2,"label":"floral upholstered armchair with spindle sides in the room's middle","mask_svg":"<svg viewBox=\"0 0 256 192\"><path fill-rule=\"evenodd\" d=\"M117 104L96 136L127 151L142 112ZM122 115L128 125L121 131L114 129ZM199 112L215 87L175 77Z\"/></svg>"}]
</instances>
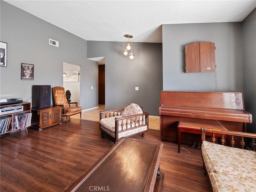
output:
<instances>
[{"instance_id":1,"label":"floral upholstered armchair with spindle sides in the room's middle","mask_svg":"<svg viewBox=\"0 0 256 192\"><path fill-rule=\"evenodd\" d=\"M108 136L114 143L122 137L142 134L148 131L148 112L130 104L124 109L100 112L101 136Z\"/></svg>"}]
</instances>

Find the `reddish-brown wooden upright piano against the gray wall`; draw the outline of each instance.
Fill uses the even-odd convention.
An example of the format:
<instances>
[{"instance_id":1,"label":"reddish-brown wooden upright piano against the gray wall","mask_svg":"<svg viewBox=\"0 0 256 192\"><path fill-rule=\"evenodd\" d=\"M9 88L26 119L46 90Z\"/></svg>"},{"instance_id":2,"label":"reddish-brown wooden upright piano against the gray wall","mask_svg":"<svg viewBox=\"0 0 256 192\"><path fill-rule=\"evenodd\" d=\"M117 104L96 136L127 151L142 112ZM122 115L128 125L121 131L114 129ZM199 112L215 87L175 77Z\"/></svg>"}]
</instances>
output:
<instances>
[{"instance_id":1,"label":"reddish-brown wooden upright piano against the gray wall","mask_svg":"<svg viewBox=\"0 0 256 192\"><path fill-rule=\"evenodd\" d=\"M172 142L178 141L179 121L218 120L226 129L241 132L246 132L246 123L252 123L241 92L161 91L159 114L160 139ZM181 142L192 144L195 137L184 133Z\"/></svg>"}]
</instances>

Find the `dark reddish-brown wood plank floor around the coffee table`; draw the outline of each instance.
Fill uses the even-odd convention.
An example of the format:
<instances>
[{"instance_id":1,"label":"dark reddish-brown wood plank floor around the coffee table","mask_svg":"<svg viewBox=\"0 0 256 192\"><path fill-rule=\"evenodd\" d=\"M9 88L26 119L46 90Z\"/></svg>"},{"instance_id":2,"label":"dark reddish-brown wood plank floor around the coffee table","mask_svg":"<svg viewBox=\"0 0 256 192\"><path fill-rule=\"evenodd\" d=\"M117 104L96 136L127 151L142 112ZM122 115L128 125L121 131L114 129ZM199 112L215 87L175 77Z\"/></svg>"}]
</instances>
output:
<instances>
[{"instance_id":1,"label":"dark reddish-brown wood plank floor around the coffee table","mask_svg":"<svg viewBox=\"0 0 256 192\"><path fill-rule=\"evenodd\" d=\"M160 131L150 129L144 141L160 142ZM162 141L162 192L210 192L202 173L200 149ZM100 137L99 122L70 118L38 131L25 130L0 139L1 192L64 192L114 143ZM125 192L125 189L124 189Z\"/></svg>"}]
</instances>

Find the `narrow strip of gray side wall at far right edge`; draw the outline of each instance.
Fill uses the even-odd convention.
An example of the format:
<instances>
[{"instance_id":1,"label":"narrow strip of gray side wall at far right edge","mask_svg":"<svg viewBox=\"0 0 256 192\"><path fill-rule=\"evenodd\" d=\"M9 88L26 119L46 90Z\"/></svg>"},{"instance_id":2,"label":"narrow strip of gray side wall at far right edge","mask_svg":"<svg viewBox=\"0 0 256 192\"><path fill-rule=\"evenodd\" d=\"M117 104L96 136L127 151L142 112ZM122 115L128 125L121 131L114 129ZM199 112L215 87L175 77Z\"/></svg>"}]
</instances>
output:
<instances>
[{"instance_id":1,"label":"narrow strip of gray side wall at far right edge","mask_svg":"<svg viewBox=\"0 0 256 192\"><path fill-rule=\"evenodd\" d=\"M252 114L248 132L256 133L256 9L242 22L244 105Z\"/></svg>"}]
</instances>

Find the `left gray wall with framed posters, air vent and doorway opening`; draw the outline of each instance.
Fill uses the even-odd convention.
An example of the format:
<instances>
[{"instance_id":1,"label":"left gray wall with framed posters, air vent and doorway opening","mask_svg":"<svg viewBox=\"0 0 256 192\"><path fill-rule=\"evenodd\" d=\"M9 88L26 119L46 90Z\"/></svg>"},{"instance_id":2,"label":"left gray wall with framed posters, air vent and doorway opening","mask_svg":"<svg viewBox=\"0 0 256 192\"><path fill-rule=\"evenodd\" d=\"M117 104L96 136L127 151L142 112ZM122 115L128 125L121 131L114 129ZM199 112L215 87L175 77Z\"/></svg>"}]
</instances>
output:
<instances>
[{"instance_id":1,"label":"left gray wall with framed posters, air vent and doorway opening","mask_svg":"<svg viewBox=\"0 0 256 192\"><path fill-rule=\"evenodd\" d=\"M66 62L81 66L80 105L98 106L98 89L91 90L98 86L98 66L86 59L86 40L4 1L0 8L0 40L8 49L7 67L0 67L0 97L31 102L32 85L63 86ZM49 38L59 41L59 48L49 45ZM34 80L20 80L21 63L34 64Z\"/></svg>"}]
</instances>

